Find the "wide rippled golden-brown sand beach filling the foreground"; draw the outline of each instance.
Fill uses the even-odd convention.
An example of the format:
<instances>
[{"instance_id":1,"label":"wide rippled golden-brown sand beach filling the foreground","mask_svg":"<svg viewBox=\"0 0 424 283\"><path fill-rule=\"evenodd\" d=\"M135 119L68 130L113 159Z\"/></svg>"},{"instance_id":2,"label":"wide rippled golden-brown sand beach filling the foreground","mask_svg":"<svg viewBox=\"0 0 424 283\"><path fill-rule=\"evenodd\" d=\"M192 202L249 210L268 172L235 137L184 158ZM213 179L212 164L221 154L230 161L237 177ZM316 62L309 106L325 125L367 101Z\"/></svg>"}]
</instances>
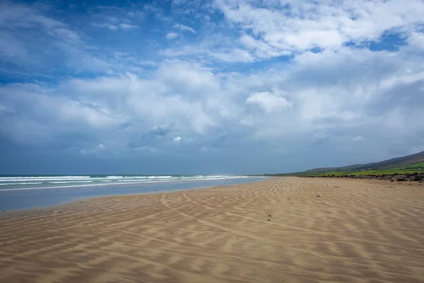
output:
<instances>
[{"instance_id":1,"label":"wide rippled golden-brown sand beach filling the foreground","mask_svg":"<svg viewBox=\"0 0 424 283\"><path fill-rule=\"evenodd\" d=\"M0 282L424 282L424 186L274 178L3 212Z\"/></svg>"}]
</instances>

